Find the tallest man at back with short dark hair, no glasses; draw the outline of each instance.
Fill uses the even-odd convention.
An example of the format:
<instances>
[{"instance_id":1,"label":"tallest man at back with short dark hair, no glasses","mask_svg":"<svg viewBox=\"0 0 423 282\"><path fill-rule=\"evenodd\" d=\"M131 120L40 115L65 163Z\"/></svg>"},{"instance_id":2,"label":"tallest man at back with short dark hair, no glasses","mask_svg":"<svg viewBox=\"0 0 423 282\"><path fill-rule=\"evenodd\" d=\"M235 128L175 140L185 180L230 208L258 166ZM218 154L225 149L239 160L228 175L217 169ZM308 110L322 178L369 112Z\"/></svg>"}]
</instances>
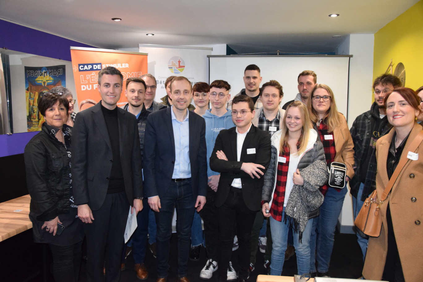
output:
<instances>
[{"instance_id":1,"label":"tallest man at back with short dark hair, no glasses","mask_svg":"<svg viewBox=\"0 0 423 282\"><path fill-rule=\"evenodd\" d=\"M244 70L243 79L245 88L239 91L233 98L239 95L247 95L253 99L254 109L257 110L262 106L260 99L260 83L262 79L260 76L260 68L254 64L248 65ZM231 105L232 101L229 101L228 109L231 109Z\"/></svg>"}]
</instances>

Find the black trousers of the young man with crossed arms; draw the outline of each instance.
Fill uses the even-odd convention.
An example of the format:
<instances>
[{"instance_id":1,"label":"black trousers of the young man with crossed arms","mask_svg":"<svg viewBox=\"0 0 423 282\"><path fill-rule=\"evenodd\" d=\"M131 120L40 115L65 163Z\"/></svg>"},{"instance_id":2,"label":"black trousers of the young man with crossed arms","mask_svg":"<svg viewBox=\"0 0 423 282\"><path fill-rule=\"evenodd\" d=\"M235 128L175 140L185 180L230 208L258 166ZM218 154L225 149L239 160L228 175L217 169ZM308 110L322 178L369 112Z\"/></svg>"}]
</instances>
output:
<instances>
[{"instance_id":1,"label":"black trousers of the young man with crossed arms","mask_svg":"<svg viewBox=\"0 0 423 282\"><path fill-rule=\"evenodd\" d=\"M239 242L239 279L247 280L251 254L251 230L257 211L247 208L242 189L231 187L228 198L217 208L219 221L219 281L225 282L233 245L233 225L236 223ZM207 244L207 243L206 243Z\"/></svg>"}]
</instances>

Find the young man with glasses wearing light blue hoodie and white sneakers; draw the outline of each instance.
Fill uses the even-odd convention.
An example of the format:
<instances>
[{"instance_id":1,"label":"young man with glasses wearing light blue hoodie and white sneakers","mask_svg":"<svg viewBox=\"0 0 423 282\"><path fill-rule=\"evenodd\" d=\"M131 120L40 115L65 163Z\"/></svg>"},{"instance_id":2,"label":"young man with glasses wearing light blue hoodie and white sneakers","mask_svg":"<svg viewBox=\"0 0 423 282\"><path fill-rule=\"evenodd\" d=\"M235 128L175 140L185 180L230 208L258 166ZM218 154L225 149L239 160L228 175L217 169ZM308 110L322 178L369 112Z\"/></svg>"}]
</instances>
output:
<instances>
[{"instance_id":1,"label":"young man with glasses wearing light blue hoodie and white sneakers","mask_svg":"<svg viewBox=\"0 0 423 282\"><path fill-rule=\"evenodd\" d=\"M211 82L209 95L211 109L206 110L203 115L204 120L206 120L207 160L210 159L217 134L222 129L230 129L235 126L232 121L231 111L226 109L226 103L231 98L229 90L231 90L231 85L225 80L214 80ZM207 162L207 177L209 186L207 187L206 204L200 215L204 222L204 237L208 260L200 272L201 279L210 279L218 266L217 208L214 205L213 197L216 195L220 173L211 170L209 162ZM231 264L228 266L227 276L228 280L236 279L236 272L231 267Z\"/></svg>"}]
</instances>

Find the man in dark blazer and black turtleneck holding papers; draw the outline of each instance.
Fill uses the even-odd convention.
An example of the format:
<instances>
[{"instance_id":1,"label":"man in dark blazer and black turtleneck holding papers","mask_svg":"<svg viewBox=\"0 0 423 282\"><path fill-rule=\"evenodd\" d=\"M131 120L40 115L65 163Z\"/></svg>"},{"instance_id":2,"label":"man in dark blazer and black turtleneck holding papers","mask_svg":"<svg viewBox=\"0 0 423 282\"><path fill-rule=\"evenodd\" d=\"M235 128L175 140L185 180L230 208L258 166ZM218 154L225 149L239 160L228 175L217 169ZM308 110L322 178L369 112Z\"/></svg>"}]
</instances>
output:
<instances>
[{"instance_id":1,"label":"man in dark blazer and black turtleneck holding papers","mask_svg":"<svg viewBox=\"0 0 423 282\"><path fill-rule=\"evenodd\" d=\"M102 101L78 113L72 132L72 186L87 223L88 281L118 282L129 207L143 208L140 140L135 115L116 107L121 72L106 67L97 79Z\"/></svg>"}]
</instances>

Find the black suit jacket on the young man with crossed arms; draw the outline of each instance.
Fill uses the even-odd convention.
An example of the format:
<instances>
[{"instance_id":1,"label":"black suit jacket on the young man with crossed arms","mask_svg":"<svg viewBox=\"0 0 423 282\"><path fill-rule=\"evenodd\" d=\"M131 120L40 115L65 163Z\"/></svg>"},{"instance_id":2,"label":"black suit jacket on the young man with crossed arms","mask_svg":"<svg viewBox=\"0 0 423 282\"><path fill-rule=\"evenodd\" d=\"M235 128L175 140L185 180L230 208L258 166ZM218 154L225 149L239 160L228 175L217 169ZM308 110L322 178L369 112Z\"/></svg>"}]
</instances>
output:
<instances>
[{"instance_id":1,"label":"black suit jacket on the young man with crossed arms","mask_svg":"<svg viewBox=\"0 0 423 282\"><path fill-rule=\"evenodd\" d=\"M247 149L255 148L255 153L247 153ZM264 184L264 175L260 178L251 178L249 174L241 170L243 162L261 164L266 172L270 163L270 137L269 133L251 125L250 131L245 136L242 144L240 162L236 154L236 127L224 129L217 135L213 153L210 156L211 170L220 172L219 186L214 198L215 205L220 207L225 203L233 179L241 178L242 195L247 207L252 211L261 208L261 190ZM222 150L228 161L218 159L216 152Z\"/></svg>"}]
</instances>

